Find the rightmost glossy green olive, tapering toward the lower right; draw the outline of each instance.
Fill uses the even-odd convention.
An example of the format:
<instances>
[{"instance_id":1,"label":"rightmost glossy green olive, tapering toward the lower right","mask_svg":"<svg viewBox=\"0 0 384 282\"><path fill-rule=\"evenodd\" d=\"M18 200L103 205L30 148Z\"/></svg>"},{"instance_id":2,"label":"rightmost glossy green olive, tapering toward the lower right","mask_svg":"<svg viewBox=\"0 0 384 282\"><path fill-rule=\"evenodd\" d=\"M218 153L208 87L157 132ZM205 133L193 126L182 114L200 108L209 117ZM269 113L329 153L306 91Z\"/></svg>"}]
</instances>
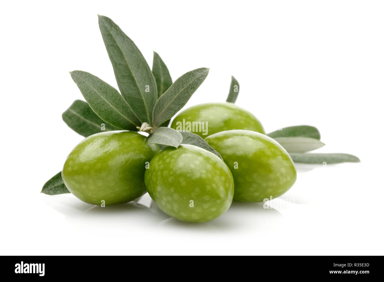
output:
<instances>
[{"instance_id":1,"label":"rightmost glossy green olive, tapering toward the lower right","mask_svg":"<svg viewBox=\"0 0 384 282\"><path fill-rule=\"evenodd\" d=\"M296 181L295 165L272 138L249 130L227 130L205 138L223 157L235 181L233 201L261 202L283 195ZM237 168L236 168L237 167Z\"/></svg>"}]
</instances>

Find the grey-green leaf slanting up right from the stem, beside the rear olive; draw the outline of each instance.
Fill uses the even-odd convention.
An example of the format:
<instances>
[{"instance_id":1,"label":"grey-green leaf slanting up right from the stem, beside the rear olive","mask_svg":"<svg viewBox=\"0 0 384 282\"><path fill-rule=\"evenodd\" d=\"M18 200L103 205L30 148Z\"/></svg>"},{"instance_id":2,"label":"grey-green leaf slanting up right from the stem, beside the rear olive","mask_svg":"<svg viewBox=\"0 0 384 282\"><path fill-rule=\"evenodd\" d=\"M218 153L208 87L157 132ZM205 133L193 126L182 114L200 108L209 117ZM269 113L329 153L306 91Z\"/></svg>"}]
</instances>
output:
<instances>
[{"instance_id":1,"label":"grey-green leaf slanting up right from the stem, beside the rear olive","mask_svg":"<svg viewBox=\"0 0 384 282\"><path fill-rule=\"evenodd\" d=\"M173 117L203 83L209 69L200 68L180 76L157 100L153 108L152 126L157 127Z\"/></svg>"}]
</instances>

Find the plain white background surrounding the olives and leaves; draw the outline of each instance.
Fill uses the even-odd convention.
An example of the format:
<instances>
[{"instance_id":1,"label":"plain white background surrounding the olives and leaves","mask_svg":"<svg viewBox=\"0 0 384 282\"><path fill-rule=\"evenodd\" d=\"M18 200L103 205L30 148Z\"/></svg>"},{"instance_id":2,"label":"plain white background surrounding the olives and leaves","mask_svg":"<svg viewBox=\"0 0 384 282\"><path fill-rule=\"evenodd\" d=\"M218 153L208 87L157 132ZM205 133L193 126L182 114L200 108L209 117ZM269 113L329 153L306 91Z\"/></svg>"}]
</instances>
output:
<instances>
[{"instance_id":1,"label":"plain white background surrounding the olives and leaves","mask_svg":"<svg viewBox=\"0 0 384 282\"><path fill-rule=\"evenodd\" d=\"M8 255L383 254L384 4L381 1L2 2L1 234ZM111 208L40 193L83 139L61 120L83 99L69 71L117 88L97 14L112 18L175 80L210 73L187 104L237 104L267 132L309 124L361 163L298 165L276 209L234 203L205 224L140 204Z\"/></svg>"}]
</instances>

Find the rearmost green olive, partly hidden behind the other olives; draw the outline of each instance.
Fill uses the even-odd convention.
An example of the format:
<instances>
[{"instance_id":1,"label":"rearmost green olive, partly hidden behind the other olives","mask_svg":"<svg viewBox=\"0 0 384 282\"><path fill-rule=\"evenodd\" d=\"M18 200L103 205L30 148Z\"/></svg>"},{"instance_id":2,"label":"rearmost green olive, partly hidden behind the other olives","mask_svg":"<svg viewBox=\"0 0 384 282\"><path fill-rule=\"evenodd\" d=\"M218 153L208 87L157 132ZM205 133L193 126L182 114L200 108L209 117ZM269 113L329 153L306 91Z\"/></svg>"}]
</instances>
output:
<instances>
[{"instance_id":1,"label":"rearmost green olive, partly hidden behind the other olives","mask_svg":"<svg viewBox=\"0 0 384 282\"><path fill-rule=\"evenodd\" d=\"M185 122L207 122L208 130L196 129L193 131L187 126L182 128ZM236 106L233 103L207 103L192 106L180 112L172 121L171 126L176 130L194 132L205 138L220 131L232 129L252 130L265 134L263 125L251 112ZM204 130L205 131L205 130Z\"/></svg>"}]
</instances>

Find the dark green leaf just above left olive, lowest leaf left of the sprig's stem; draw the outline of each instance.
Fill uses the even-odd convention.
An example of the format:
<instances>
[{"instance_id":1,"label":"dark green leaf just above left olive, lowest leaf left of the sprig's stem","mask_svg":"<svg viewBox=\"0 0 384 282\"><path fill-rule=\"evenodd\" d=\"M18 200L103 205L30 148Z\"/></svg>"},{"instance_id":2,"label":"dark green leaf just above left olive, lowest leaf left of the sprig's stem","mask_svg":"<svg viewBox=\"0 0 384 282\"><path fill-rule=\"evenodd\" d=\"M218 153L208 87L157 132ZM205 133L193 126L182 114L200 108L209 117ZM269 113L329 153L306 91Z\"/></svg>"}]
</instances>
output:
<instances>
[{"instance_id":1,"label":"dark green leaf just above left olive, lowest leaf left of the sprig's stem","mask_svg":"<svg viewBox=\"0 0 384 282\"><path fill-rule=\"evenodd\" d=\"M87 102L76 100L73 104L63 112L64 122L78 134L88 137L89 135L103 132L102 124L105 131L120 130L118 127L108 124L100 119L98 115L89 107Z\"/></svg>"}]
</instances>

